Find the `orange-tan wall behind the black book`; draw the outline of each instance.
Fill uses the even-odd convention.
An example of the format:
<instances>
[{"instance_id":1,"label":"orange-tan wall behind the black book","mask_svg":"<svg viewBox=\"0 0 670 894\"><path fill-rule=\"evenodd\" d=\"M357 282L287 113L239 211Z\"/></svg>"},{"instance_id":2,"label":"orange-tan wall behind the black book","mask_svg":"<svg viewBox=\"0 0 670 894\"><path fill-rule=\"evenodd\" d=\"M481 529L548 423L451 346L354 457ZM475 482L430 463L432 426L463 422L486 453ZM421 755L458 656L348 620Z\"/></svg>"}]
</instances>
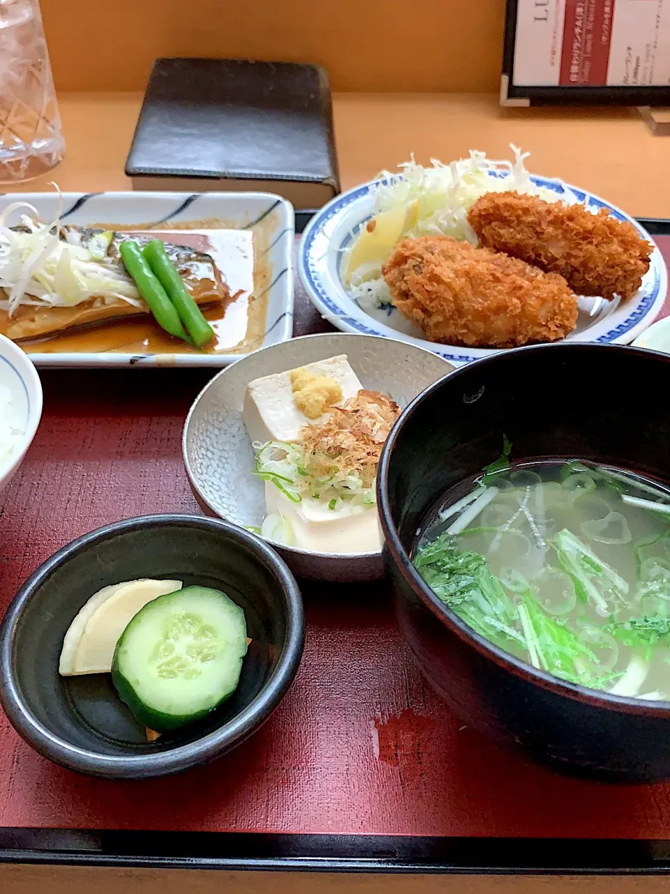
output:
<instances>
[{"instance_id":1,"label":"orange-tan wall behind the black book","mask_svg":"<svg viewBox=\"0 0 670 894\"><path fill-rule=\"evenodd\" d=\"M41 0L59 90L143 90L161 55L320 63L335 90L498 91L505 0Z\"/></svg>"}]
</instances>

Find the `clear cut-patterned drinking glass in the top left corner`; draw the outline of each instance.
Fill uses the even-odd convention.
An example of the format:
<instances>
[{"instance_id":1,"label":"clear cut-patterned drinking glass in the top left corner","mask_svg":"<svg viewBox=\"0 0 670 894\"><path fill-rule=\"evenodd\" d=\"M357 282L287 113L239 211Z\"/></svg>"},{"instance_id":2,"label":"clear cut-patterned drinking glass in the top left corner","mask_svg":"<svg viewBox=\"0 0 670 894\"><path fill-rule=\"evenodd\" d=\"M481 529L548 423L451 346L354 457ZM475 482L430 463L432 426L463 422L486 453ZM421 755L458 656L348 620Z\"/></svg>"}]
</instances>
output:
<instances>
[{"instance_id":1,"label":"clear cut-patterned drinking glass in the top left corner","mask_svg":"<svg viewBox=\"0 0 670 894\"><path fill-rule=\"evenodd\" d=\"M64 148L39 0L0 0L0 183L50 171Z\"/></svg>"}]
</instances>

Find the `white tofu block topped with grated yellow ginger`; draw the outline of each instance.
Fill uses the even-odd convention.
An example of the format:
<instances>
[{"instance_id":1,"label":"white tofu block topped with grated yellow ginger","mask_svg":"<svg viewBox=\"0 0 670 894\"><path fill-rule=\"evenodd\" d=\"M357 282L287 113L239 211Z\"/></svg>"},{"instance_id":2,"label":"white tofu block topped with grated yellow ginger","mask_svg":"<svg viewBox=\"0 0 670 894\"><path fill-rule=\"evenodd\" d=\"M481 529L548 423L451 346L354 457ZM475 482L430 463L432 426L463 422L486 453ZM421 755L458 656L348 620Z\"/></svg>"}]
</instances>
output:
<instances>
[{"instance_id":1,"label":"white tofu block topped with grated yellow ginger","mask_svg":"<svg viewBox=\"0 0 670 894\"><path fill-rule=\"evenodd\" d=\"M318 425L362 388L346 354L264 375L247 385L242 416L249 438L297 443L301 428Z\"/></svg>"}]
</instances>

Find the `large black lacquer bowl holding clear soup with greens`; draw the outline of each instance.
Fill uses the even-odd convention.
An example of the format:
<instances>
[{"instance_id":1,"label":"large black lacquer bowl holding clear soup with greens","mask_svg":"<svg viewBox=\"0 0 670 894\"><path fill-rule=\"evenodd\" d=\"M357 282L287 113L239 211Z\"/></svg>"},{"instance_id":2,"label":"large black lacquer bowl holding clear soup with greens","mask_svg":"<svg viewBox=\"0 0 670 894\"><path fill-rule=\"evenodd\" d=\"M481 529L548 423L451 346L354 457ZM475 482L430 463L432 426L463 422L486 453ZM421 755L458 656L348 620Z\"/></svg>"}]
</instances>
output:
<instances>
[{"instance_id":1,"label":"large black lacquer bowl holding clear soup with greens","mask_svg":"<svg viewBox=\"0 0 670 894\"><path fill-rule=\"evenodd\" d=\"M501 352L405 410L377 478L398 620L425 677L469 725L541 763L617 781L670 779L670 705L607 696L535 671L441 603L409 554L440 495L498 459L580 458L670 479L670 357L609 345Z\"/></svg>"}]
</instances>

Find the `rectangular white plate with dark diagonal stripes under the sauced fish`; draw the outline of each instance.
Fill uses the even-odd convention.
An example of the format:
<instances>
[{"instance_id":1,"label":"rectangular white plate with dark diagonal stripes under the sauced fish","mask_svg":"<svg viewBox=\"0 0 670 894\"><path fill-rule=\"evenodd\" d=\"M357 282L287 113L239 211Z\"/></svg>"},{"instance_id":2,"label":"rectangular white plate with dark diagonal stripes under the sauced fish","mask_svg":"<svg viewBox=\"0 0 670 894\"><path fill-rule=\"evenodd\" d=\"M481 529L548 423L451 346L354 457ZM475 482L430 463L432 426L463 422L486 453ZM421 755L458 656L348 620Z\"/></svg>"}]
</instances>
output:
<instances>
[{"instance_id":1,"label":"rectangular white plate with dark diagonal stripes under the sauced fish","mask_svg":"<svg viewBox=\"0 0 670 894\"><path fill-rule=\"evenodd\" d=\"M40 218L54 220L59 197L54 192L0 195L0 212L13 202L29 202ZM188 345L168 339L162 350L145 347L147 341L118 344L100 350L101 331L110 325L92 327L88 332L56 337L45 342L22 345L39 367L123 367L182 366L224 367L259 348L286 342L293 332L293 240L294 212L285 199L263 192L94 192L63 193L63 223L82 226L141 224L154 229L230 229L253 233L255 262L249 272L249 290L226 308L222 315L221 348L197 352ZM14 223L12 220L10 223ZM180 226L183 224L183 226ZM248 244L248 243L247 243ZM242 251L231 245L230 254ZM231 261L235 264L235 261ZM220 266L224 266L220 264ZM250 265L247 266L250 268ZM226 270L222 269L226 275ZM247 275L247 273L245 273ZM253 299L250 293L253 290ZM236 291L231 289L231 291ZM135 318L137 320L137 318ZM247 325L247 320L248 325ZM226 321L229 321L227 323ZM213 323L217 328L219 322ZM123 333L124 324L112 324ZM217 330L218 332L219 330Z\"/></svg>"}]
</instances>

